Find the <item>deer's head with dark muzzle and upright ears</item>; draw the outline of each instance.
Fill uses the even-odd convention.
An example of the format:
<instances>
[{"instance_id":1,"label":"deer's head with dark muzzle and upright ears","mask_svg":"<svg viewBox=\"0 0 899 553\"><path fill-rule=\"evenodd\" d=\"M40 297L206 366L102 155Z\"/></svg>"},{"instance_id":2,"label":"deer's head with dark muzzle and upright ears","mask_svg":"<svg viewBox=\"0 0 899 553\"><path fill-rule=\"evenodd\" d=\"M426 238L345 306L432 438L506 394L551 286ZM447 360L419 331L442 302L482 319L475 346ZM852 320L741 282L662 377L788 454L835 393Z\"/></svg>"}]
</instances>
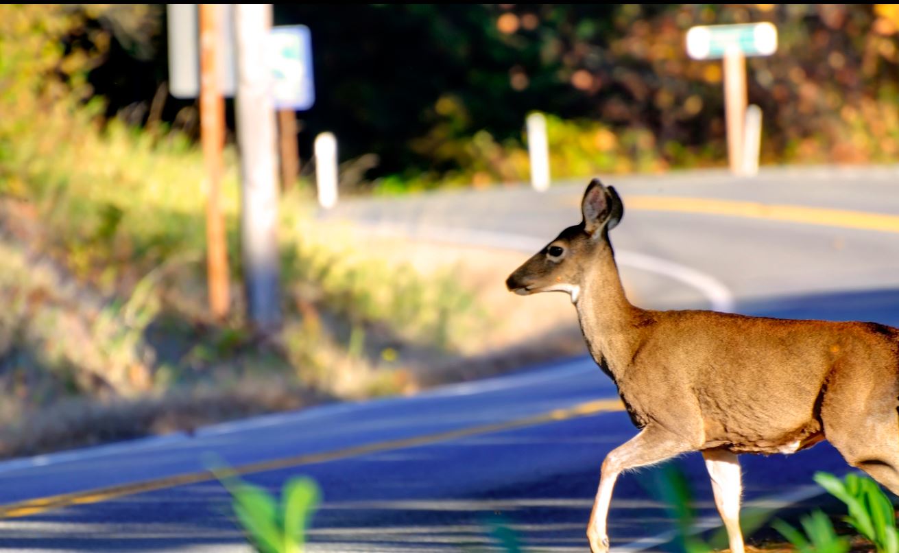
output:
<instances>
[{"instance_id":1,"label":"deer's head with dark muzzle and upright ears","mask_svg":"<svg viewBox=\"0 0 899 553\"><path fill-rule=\"evenodd\" d=\"M506 279L506 287L516 294L567 292L576 302L583 287L584 274L595 254L610 248L609 231L624 214L618 192L593 179L581 201L583 221L567 227L556 239L534 254Z\"/></svg>"}]
</instances>

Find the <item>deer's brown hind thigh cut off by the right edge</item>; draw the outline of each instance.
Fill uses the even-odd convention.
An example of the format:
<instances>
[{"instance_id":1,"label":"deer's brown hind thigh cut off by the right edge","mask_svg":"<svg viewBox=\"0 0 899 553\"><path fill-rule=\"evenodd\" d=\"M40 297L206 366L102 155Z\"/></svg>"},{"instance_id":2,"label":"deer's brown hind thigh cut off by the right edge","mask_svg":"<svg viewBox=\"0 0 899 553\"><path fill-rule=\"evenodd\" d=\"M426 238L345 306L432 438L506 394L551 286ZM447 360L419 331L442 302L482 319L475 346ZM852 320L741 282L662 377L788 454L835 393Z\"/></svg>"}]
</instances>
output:
<instances>
[{"instance_id":1,"label":"deer's brown hind thigh cut off by the right edge","mask_svg":"<svg viewBox=\"0 0 899 553\"><path fill-rule=\"evenodd\" d=\"M841 371L821 406L824 436L843 459L899 495L899 374L894 364Z\"/></svg>"}]
</instances>

